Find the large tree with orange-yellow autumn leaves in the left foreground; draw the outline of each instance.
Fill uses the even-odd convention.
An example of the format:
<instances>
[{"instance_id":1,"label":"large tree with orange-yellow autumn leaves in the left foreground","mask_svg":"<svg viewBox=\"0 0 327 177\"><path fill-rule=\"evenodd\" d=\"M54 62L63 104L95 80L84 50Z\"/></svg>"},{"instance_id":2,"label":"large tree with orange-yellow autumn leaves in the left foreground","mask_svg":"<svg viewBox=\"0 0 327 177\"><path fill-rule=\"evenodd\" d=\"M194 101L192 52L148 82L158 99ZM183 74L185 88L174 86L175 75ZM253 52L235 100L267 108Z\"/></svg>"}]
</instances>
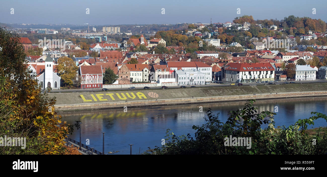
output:
<instances>
[{"instance_id":1,"label":"large tree with orange-yellow autumn leaves in the left foreground","mask_svg":"<svg viewBox=\"0 0 327 177\"><path fill-rule=\"evenodd\" d=\"M0 46L0 135L26 137L25 149L2 146L0 154L64 154L71 129L55 112L55 99L41 93L27 69L19 36L0 28Z\"/></svg>"}]
</instances>

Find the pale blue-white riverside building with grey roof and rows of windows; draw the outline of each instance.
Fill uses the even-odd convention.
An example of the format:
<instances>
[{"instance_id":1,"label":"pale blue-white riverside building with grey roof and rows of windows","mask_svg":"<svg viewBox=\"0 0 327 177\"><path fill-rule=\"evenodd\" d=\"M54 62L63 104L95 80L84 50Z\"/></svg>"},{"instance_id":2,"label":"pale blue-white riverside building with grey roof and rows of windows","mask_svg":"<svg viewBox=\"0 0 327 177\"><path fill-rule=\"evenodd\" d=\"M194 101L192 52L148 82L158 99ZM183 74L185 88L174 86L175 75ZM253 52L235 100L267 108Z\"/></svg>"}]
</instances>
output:
<instances>
[{"instance_id":1,"label":"pale blue-white riverside building with grey roof and rows of windows","mask_svg":"<svg viewBox=\"0 0 327 177\"><path fill-rule=\"evenodd\" d=\"M197 70L176 70L175 81L178 85L204 85L205 74Z\"/></svg>"}]
</instances>

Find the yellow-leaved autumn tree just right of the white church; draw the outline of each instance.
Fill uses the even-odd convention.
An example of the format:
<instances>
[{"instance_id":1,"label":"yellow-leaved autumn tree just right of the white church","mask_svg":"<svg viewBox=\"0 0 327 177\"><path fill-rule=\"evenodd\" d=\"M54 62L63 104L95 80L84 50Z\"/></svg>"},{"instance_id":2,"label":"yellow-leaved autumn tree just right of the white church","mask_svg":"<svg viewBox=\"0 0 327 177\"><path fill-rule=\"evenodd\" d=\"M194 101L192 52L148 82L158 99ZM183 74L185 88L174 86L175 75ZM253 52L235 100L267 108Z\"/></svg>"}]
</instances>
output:
<instances>
[{"instance_id":1,"label":"yellow-leaved autumn tree just right of the white church","mask_svg":"<svg viewBox=\"0 0 327 177\"><path fill-rule=\"evenodd\" d=\"M76 78L77 66L73 59L65 57L58 58L57 70L65 86L73 85L73 79Z\"/></svg>"}]
</instances>

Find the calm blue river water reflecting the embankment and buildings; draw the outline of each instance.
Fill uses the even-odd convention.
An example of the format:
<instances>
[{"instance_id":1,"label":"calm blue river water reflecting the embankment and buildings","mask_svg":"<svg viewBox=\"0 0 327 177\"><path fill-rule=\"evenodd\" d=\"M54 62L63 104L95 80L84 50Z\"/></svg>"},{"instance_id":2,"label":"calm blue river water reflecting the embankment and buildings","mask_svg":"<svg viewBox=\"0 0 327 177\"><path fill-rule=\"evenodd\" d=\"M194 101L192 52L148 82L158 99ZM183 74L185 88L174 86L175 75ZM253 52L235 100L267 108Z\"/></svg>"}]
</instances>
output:
<instances>
[{"instance_id":1,"label":"calm blue river water reflecting the embankment and buildings","mask_svg":"<svg viewBox=\"0 0 327 177\"><path fill-rule=\"evenodd\" d=\"M149 107L130 107L127 112L121 109L101 109L89 111L60 112L63 121L74 124L81 121L82 143L90 143L102 152L102 133L105 135L105 153L119 151L115 154L129 154L129 144L132 146L132 153L143 153L148 148L161 146L161 140L165 138L166 129L171 129L175 135L187 135L194 137L193 125L205 123L203 117L206 110L212 109L214 114L219 113L219 119L226 122L230 110L237 110L243 107L245 101L223 102L223 103L202 103L189 105L163 105ZM199 111L202 106L203 112ZM311 112L327 112L327 97L307 97L292 99L257 100L254 103L259 111L275 112L275 127L294 124L298 119L311 117ZM276 107L277 106L277 107ZM276 109L278 108L278 110ZM126 110L125 110L126 111ZM316 120L315 125L308 128L327 126L324 119ZM262 128L267 126L263 125ZM75 128L73 135L79 141L79 130ZM89 140L87 140L89 139Z\"/></svg>"}]
</instances>

